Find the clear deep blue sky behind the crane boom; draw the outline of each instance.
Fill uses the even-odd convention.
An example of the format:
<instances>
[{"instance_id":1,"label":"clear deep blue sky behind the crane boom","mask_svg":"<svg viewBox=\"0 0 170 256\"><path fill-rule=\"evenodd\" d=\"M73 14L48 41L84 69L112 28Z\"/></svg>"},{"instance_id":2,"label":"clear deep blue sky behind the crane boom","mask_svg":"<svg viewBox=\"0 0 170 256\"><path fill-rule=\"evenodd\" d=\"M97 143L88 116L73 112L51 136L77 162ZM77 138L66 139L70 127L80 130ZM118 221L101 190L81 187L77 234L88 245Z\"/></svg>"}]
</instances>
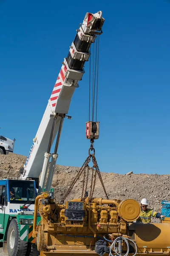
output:
<instances>
[{"instance_id":1,"label":"clear deep blue sky behind the crane boom","mask_svg":"<svg viewBox=\"0 0 170 256\"><path fill-rule=\"evenodd\" d=\"M28 155L61 62L86 12L102 10L100 137L102 172L170 173L170 1L0 0L0 133ZM58 164L88 156L88 63L72 98Z\"/></svg>"}]
</instances>

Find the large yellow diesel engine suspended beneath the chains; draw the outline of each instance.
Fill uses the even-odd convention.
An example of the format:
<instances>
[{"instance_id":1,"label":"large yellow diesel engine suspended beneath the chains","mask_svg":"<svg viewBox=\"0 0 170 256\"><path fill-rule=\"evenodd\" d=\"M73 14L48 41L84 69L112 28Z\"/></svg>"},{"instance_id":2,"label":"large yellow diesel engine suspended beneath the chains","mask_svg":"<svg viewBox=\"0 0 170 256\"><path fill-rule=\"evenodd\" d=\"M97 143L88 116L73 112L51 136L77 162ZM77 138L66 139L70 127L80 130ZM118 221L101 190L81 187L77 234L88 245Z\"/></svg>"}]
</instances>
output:
<instances>
[{"instance_id":1,"label":"large yellow diesel engine suspended beneath the chains","mask_svg":"<svg viewBox=\"0 0 170 256\"><path fill-rule=\"evenodd\" d=\"M37 212L41 221L37 226ZM95 244L104 240L109 248L118 237L131 239L137 245L137 255L170 254L170 221L164 223L135 223L141 212L133 199L125 201L94 198L92 202L80 198L56 203L48 193L39 195L35 201L33 237L37 240L40 256L97 256ZM127 250L124 240L122 252ZM118 246L118 244L117 244ZM130 244L129 255L135 253ZM115 252L112 252L116 255Z\"/></svg>"}]
</instances>

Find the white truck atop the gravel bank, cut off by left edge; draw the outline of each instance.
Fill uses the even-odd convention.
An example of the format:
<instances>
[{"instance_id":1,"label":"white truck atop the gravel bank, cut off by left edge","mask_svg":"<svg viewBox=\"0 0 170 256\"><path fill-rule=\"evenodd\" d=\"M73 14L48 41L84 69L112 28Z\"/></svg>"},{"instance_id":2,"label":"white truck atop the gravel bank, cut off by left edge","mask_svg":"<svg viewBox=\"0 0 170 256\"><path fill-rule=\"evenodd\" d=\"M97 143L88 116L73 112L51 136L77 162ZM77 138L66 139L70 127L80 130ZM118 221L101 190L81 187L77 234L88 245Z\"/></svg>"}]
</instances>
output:
<instances>
[{"instance_id":1,"label":"white truck atop the gravel bank, cut off by left edge","mask_svg":"<svg viewBox=\"0 0 170 256\"><path fill-rule=\"evenodd\" d=\"M14 140L10 140L7 137L0 135L0 154L8 154L14 150Z\"/></svg>"}]
</instances>

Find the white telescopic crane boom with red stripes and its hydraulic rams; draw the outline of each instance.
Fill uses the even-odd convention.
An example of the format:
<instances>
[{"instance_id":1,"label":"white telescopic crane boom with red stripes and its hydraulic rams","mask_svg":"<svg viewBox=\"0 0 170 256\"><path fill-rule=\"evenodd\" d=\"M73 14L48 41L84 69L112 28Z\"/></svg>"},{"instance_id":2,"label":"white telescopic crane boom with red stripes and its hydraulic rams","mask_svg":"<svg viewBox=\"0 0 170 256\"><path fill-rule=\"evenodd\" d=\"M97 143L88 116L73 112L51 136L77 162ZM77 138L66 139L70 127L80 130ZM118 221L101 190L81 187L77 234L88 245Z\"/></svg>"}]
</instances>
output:
<instances>
[{"instance_id":1,"label":"white telescopic crane boom with red stripes and its hydraulic rams","mask_svg":"<svg viewBox=\"0 0 170 256\"><path fill-rule=\"evenodd\" d=\"M42 117L37 134L29 151L23 170L20 171L21 178L37 179L41 173L39 193L42 192L51 157L51 145L57 135L54 154L48 173L45 190L51 187L54 168L57 160L57 148L62 130L63 120L68 113L71 98L75 88L79 87L78 81L82 80L85 73L84 64L90 56L90 46L96 37L102 34L104 23L102 12L95 14L86 13L83 23L77 29L77 35L71 44L67 58L62 62L61 70L51 93L45 113ZM67 116L69 118L69 116ZM58 133L58 134L57 134Z\"/></svg>"}]
</instances>

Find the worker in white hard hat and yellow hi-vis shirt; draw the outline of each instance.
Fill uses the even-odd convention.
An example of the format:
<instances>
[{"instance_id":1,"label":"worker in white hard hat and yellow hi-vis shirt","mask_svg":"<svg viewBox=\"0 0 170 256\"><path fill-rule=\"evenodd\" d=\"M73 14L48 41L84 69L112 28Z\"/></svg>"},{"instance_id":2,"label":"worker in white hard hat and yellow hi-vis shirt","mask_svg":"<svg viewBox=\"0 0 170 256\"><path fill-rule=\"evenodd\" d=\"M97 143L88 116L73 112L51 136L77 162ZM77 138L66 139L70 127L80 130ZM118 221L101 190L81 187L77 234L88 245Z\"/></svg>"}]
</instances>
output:
<instances>
[{"instance_id":1,"label":"worker in white hard hat and yellow hi-vis shirt","mask_svg":"<svg viewBox=\"0 0 170 256\"><path fill-rule=\"evenodd\" d=\"M161 215L159 212L155 212L153 209L147 208L148 201L146 198L143 198L141 201L141 214L136 222L150 223L151 217L154 218L164 218L166 216Z\"/></svg>"}]
</instances>

